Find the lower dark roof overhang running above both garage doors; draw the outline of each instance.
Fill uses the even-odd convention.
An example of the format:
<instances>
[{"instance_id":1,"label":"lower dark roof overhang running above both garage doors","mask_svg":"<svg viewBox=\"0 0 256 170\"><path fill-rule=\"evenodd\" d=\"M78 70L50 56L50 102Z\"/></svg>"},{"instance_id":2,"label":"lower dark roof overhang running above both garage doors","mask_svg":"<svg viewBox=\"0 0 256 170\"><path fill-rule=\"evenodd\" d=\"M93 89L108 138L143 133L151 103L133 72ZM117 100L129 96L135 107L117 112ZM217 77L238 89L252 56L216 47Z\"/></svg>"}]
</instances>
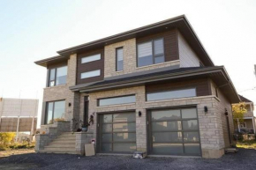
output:
<instances>
[{"instance_id":1,"label":"lower dark roof overhang running above both garage doors","mask_svg":"<svg viewBox=\"0 0 256 170\"><path fill-rule=\"evenodd\" d=\"M171 72L166 74L159 74L145 78L126 78L124 80L109 82L102 81L102 83L95 83L92 85L75 85L71 86L70 90L73 92L100 92L118 88L125 88L137 85L148 85L155 82L161 83L166 81L178 81L194 78L211 78L215 84L222 90L222 93L230 100L231 103L237 103L240 98L237 91L232 84L227 71L223 66L201 68L198 70L184 70L178 72Z\"/></svg>"}]
</instances>

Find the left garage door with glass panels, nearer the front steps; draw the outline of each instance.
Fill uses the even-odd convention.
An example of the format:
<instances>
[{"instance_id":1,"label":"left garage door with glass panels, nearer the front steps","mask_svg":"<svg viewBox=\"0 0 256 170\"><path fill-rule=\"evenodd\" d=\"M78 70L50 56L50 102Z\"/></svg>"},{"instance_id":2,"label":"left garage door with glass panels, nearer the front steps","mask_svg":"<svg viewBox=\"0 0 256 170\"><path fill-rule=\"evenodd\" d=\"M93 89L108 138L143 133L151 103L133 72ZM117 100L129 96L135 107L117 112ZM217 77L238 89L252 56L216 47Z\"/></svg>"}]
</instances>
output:
<instances>
[{"instance_id":1,"label":"left garage door with glass panels, nearer the front steps","mask_svg":"<svg viewBox=\"0 0 256 170\"><path fill-rule=\"evenodd\" d=\"M100 152L136 151L134 112L100 115Z\"/></svg>"}]
</instances>

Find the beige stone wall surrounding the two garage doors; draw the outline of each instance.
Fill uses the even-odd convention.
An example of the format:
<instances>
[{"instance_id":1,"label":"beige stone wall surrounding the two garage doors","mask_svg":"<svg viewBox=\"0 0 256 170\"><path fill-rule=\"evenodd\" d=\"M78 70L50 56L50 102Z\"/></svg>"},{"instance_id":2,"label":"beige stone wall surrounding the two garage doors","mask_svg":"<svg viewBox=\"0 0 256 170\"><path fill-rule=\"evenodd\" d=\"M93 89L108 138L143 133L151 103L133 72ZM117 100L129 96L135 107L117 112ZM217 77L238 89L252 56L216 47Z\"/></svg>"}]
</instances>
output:
<instances>
[{"instance_id":1,"label":"beige stone wall surrounding the two garage doors","mask_svg":"<svg viewBox=\"0 0 256 170\"><path fill-rule=\"evenodd\" d=\"M107 107L97 107L97 99L121 96L127 94L136 94L135 104L115 105ZM147 151L147 119L146 108L152 107L184 107L197 106L200 125L200 143L202 148L203 158L220 158L224 153L224 135L222 115L224 114L224 107L229 103L222 103L214 95L201 96L194 98L185 98L177 100L158 100L146 101L145 86L136 86L131 88L124 88L118 90L111 90L106 92L93 92L89 95L89 114L111 111L122 111L128 109L136 110L136 142L138 151ZM204 112L204 107L207 106L207 114ZM228 107L230 109L230 107ZM142 112L142 116L138 116L138 112ZM94 125L89 129L94 132L96 138L97 114L94 115Z\"/></svg>"}]
</instances>

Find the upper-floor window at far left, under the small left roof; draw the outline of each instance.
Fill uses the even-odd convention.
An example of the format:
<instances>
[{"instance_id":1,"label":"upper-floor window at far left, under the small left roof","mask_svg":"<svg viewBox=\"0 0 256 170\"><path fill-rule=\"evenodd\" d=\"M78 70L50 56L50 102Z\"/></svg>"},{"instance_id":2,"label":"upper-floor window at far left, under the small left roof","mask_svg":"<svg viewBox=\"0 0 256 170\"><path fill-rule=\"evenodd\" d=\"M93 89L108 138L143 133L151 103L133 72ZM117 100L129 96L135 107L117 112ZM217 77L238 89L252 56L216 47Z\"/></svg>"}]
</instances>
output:
<instances>
[{"instance_id":1,"label":"upper-floor window at far left, under the small left roof","mask_svg":"<svg viewBox=\"0 0 256 170\"><path fill-rule=\"evenodd\" d=\"M58 67L49 70L49 85L64 85L67 79L67 66Z\"/></svg>"}]
</instances>

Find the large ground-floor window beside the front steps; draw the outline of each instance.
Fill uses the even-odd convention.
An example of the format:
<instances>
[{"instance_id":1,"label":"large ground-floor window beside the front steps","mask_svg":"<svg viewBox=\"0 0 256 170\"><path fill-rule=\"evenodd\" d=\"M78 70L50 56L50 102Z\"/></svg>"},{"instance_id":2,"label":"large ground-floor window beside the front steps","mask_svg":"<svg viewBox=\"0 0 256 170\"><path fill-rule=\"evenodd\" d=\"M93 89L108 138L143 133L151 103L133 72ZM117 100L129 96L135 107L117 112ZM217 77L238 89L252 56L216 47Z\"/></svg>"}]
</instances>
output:
<instances>
[{"instance_id":1,"label":"large ground-floor window beside the front steps","mask_svg":"<svg viewBox=\"0 0 256 170\"><path fill-rule=\"evenodd\" d=\"M54 121L64 119L65 101L47 102L45 124L52 124Z\"/></svg>"}]
</instances>

